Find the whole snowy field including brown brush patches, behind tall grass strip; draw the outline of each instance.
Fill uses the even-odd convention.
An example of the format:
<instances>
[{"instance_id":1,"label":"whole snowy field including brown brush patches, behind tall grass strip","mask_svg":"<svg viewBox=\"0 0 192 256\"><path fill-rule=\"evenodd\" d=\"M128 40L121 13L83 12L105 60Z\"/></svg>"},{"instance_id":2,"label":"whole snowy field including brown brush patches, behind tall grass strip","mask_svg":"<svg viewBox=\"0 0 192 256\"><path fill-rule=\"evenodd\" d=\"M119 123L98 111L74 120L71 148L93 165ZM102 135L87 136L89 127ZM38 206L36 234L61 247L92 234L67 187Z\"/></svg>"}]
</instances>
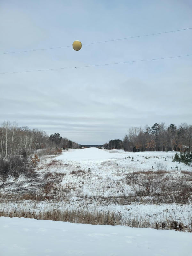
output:
<instances>
[{"instance_id":1,"label":"whole snowy field including brown brush patches, behind tall grass strip","mask_svg":"<svg viewBox=\"0 0 192 256\"><path fill-rule=\"evenodd\" d=\"M114 212L122 224L134 219L154 227L169 220L191 230L192 167L172 162L174 155L87 148L42 157L35 174L0 185L0 209L6 216Z\"/></svg>"}]
</instances>

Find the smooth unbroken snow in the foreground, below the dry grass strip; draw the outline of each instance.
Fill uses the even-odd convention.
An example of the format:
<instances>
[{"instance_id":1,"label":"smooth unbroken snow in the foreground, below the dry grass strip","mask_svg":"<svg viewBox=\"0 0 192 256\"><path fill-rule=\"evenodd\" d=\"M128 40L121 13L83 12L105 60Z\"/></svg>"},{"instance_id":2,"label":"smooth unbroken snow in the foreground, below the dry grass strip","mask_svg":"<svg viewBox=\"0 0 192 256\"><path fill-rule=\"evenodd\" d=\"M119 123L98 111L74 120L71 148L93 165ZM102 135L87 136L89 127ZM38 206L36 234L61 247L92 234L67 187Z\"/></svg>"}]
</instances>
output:
<instances>
[{"instance_id":1,"label":"smooth unbroken snow in the foreground, below the dry grass strip","mask_svg":"<svg viewBox=\"0 0 192 256\"><path fill-rule=\"evenodd\" d=\"M190 256L192 233L0 217L2 256Z\"/></svg>"}]
</instances>

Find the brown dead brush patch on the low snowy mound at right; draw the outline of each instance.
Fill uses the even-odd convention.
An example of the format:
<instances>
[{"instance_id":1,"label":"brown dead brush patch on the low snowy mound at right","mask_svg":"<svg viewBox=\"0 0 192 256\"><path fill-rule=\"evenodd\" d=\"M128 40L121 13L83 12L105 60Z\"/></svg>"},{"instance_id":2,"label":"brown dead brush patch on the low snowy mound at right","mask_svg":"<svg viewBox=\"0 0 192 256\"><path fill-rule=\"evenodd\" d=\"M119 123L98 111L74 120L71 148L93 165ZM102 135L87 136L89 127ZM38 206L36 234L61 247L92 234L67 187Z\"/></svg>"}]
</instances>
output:
<instances>
[{"instance_id":1,"label":"brown dead brush patch on the low snowy mound at right","mask_svg":"<svg viewBox=\"0 0 192 256\"><path fill-rule=\"evenodd\" d=\"M169 174L169 175L168 175ZM188 172L139 171L126 176L134 188L129 200L145 204L192 203L192 178Z\"/></svg>"}]
</instances>

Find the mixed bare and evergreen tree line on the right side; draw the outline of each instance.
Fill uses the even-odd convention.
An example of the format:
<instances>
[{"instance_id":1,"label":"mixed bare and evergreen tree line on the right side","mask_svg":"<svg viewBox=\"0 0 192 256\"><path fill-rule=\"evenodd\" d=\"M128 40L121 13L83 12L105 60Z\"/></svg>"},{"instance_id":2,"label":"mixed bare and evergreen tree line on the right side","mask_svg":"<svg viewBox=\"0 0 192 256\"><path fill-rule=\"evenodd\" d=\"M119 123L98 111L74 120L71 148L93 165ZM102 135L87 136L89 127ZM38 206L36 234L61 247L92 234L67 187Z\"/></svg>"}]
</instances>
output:
<instances>
[{"instance_id":1,"label":"mixed bare and evergreen tree line on the right side","mask_svg":"<svg viewBox=\"0 0 192 256\"><path fill-rule=\"evenodd\" d=\"M110 140L105 149L124 149L125 151L192 151L192 125L182 123L165 126L155 123L152 127L132 127L122 140Z\"/></svg>"}]
</instances>

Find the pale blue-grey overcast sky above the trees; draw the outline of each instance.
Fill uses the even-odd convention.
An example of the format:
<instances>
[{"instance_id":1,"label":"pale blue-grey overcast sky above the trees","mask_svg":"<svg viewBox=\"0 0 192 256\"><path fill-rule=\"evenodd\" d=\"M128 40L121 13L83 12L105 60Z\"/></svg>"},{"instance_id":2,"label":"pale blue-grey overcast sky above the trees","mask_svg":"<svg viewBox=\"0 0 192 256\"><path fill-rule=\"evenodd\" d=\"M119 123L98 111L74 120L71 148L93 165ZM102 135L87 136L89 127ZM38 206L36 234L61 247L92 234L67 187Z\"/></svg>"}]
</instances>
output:
<instances>
[{"instance_id":1,"label":"pale blue-grey overcast sky above the trees","mask_svg":"<svg viewBox=\"0 0 192 256\"><path fill-rule=\"evenodd\" d=\"M192 28L192 2L0 0L0 53ZM192 54L192 30L0 55L0 73ZM0 75L0 123L80 144L122 139L131 126L192 124L192 56Z\"/></svg>"}]
</instances>

